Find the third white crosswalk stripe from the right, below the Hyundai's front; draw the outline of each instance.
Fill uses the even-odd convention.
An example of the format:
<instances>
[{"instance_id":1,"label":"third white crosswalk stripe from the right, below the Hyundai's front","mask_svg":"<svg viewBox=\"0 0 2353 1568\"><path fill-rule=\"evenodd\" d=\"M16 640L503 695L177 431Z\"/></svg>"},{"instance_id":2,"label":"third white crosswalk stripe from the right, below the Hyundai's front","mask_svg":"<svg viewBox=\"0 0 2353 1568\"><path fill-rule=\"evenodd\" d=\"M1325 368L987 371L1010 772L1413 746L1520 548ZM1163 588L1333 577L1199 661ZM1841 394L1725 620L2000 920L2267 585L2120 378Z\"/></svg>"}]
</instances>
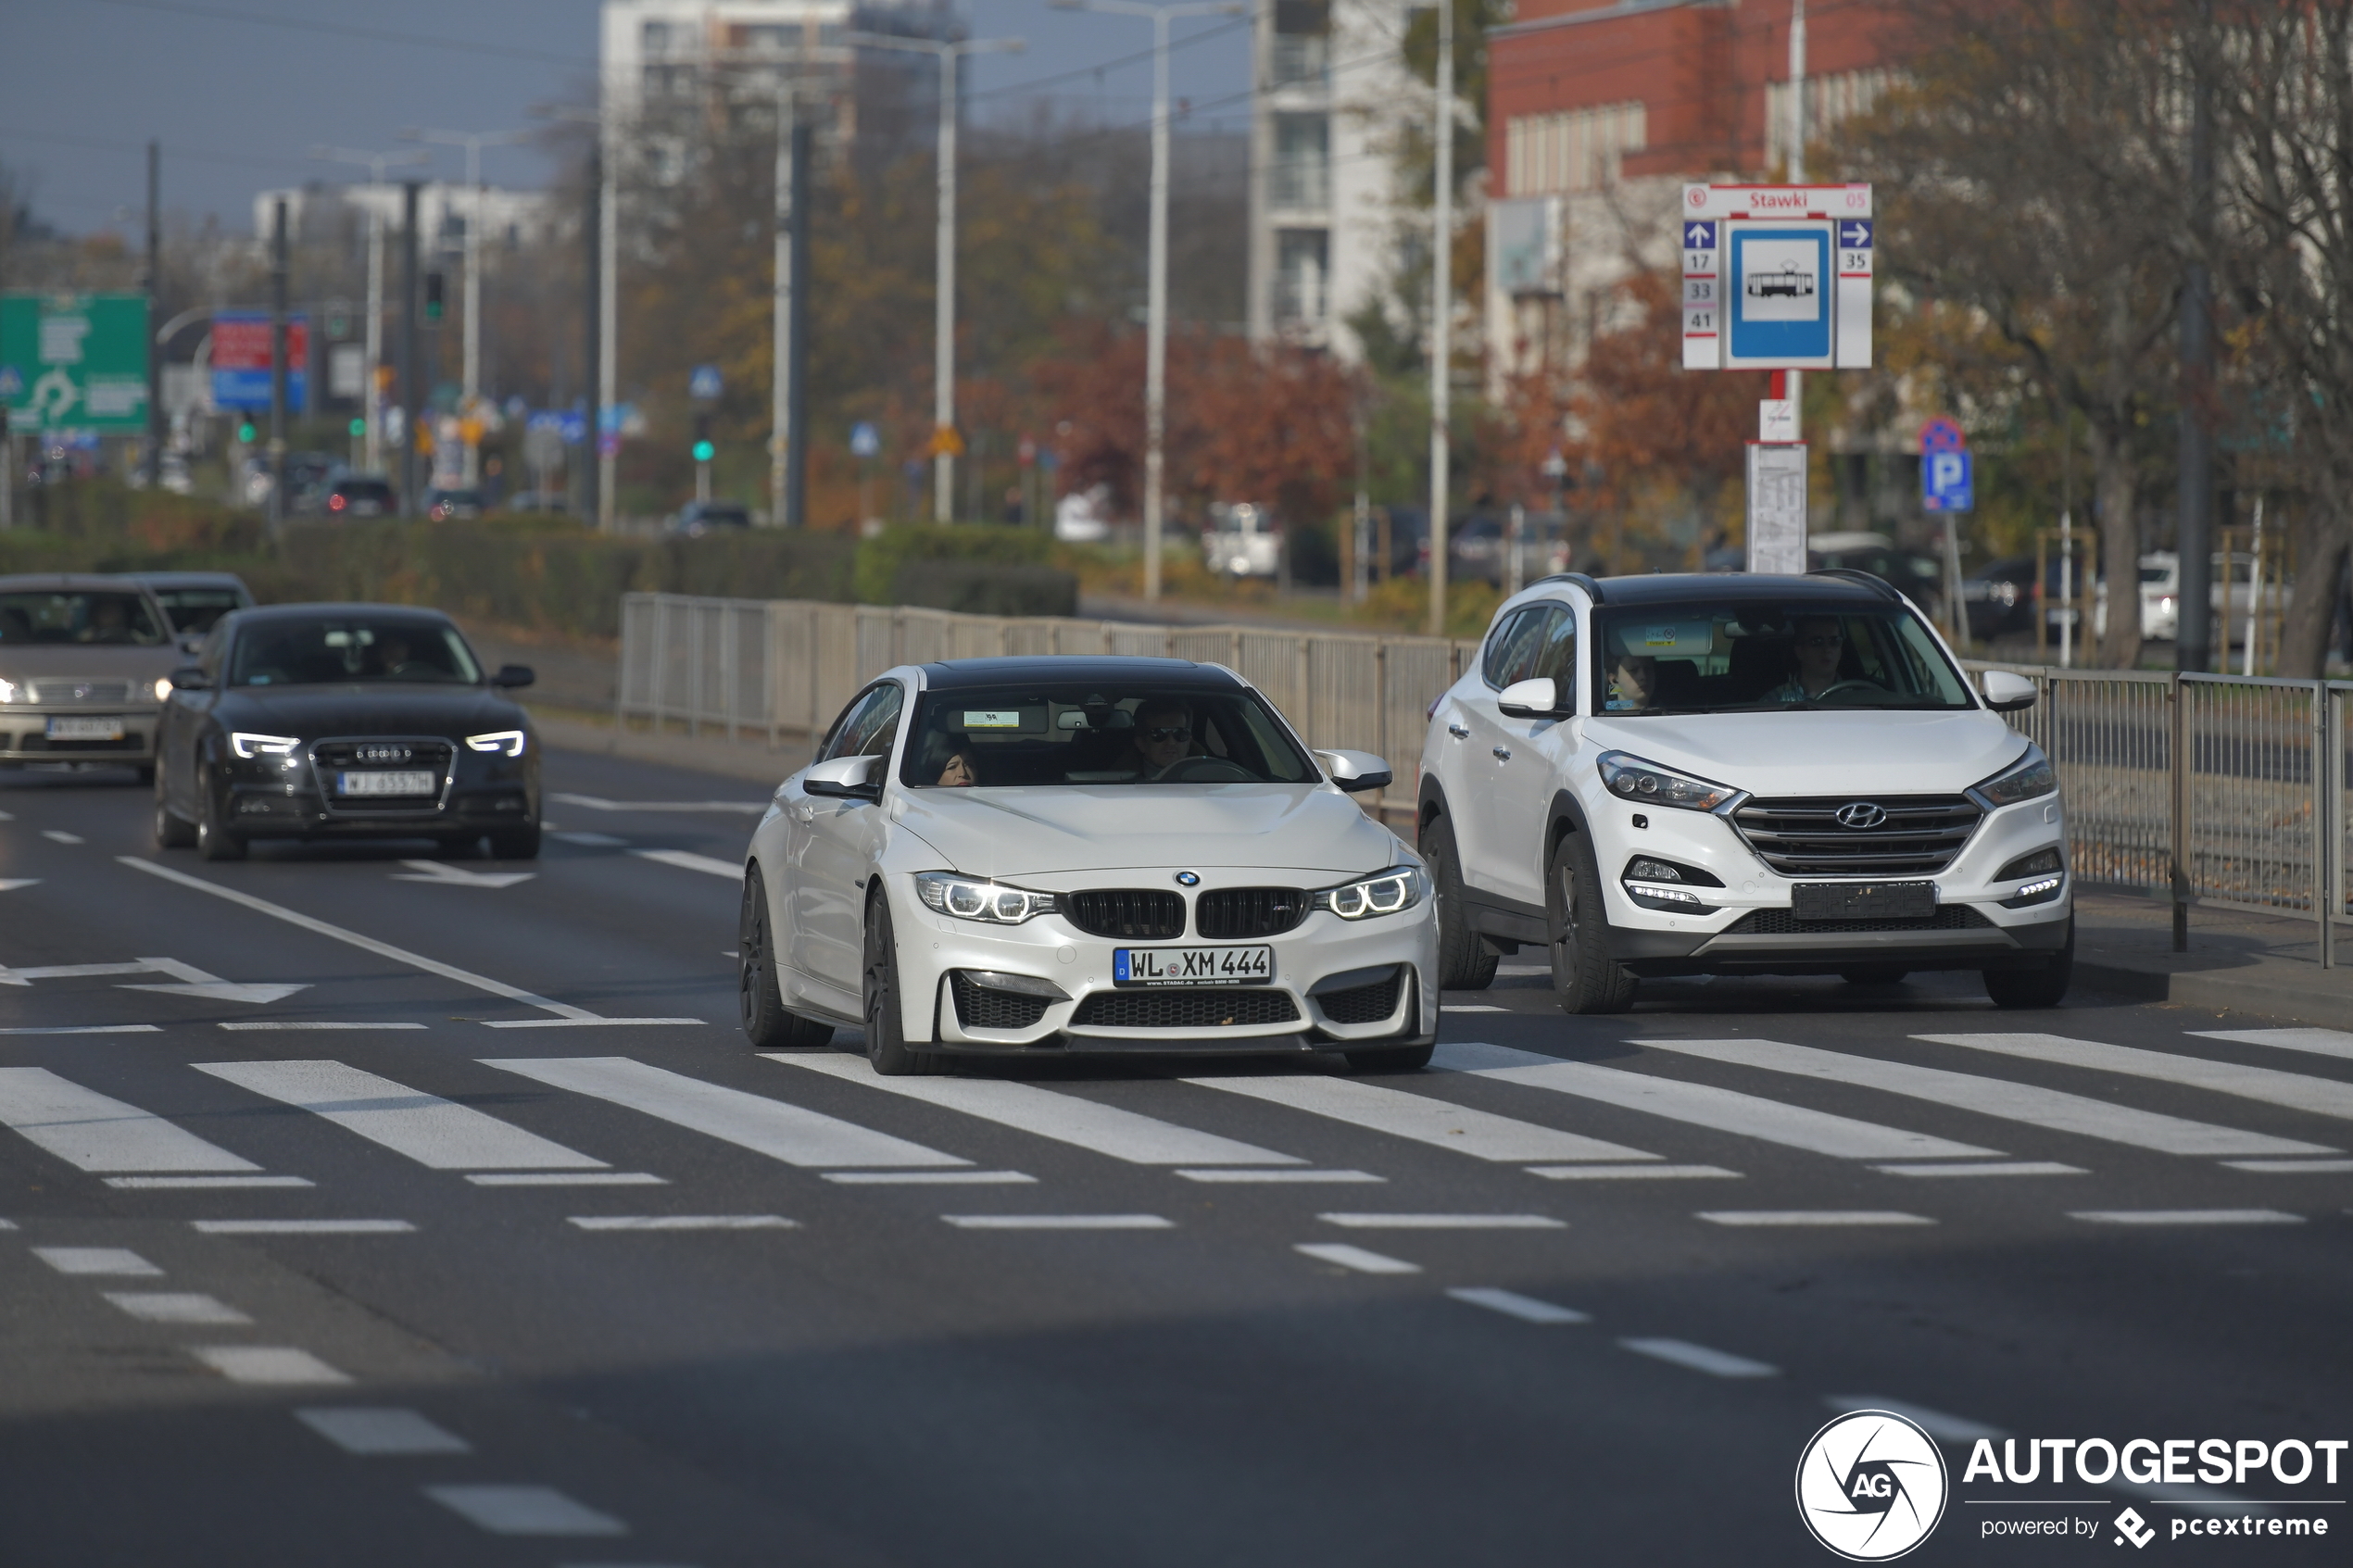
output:
<instances>
[{"instance_id":1,"label":"third white crosswalk stripe from the right, below the Hyundai's front","mask_svg":"<svg viewBox=\"0 0 2353 1568\"><path fill-rule=\"evenodd\" d=\"M2162 1117L2158 1112L2132 1110L2129 1105L2111 1105L2108 1100L2042 1088L2040 1084L2012 1084L2009 1079L1986 1079L1974 1072L1948 1072L1944 1067L1889 1063L1875 1056L1791 1046L1779 1039L1638 1039L1628 1044L1645 1051L1697 1056L1729 1067L1786 1072L1819 1084L1861 1084L1864 1088L1929 1100L1932 1105L1951 1105L1979 1117L2024 1121L2052 1133L2075 1133L2078 1138L2122 1143L2134 1150L2155 1150L2158 1154L2219 1159L2224 1154L2329 1152L2289 1138Z\"/></svg>"}]
</instances>

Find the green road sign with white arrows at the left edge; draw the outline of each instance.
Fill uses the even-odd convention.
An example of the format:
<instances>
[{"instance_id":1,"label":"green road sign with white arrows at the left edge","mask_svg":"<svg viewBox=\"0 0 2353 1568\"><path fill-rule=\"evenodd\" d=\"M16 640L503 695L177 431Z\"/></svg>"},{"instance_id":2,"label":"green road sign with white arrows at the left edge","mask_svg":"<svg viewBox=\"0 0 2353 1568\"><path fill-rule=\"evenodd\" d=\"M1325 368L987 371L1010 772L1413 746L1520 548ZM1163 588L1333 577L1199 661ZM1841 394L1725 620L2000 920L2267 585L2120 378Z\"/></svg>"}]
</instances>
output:
<instances>
[{"instance_id":1,"label":"green road sign with white arrows at the left edge","mask_svg":"<svg viewBox=\"0 0 2353 1568\"><path fill-rule=\"evenodd\" d=\"M146 294L0 294L0 404L19 430L146 430Z\"/></svg>"}]
</instances>

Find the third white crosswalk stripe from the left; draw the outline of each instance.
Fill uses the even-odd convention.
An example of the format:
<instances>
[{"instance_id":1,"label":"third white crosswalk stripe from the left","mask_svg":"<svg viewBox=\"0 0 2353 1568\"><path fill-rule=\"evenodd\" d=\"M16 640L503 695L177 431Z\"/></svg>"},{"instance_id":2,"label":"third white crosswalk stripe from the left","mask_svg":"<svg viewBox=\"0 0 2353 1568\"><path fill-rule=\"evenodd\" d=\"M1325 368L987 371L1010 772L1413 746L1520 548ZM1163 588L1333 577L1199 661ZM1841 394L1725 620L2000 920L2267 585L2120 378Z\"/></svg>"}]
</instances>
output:
<instances>
[{"instance_id":1,"label":"third white crosswalk stripe from the left","mask_svg":"<svg viewBox=\"0 0 2353 1568\"><path fill-rule=\"evenodd\" d=\"M532 1056L482 1060L551 1088L626 1105L673 1126L718 1138L753 1154L802 1168L840 1166L969 1166L969 1159L927 1150L854 1121L826 1117L786 1100L722 1088L626 1056ZM864 1063L861 1063L864 1065Z\"/></svg>"}]
</instances>

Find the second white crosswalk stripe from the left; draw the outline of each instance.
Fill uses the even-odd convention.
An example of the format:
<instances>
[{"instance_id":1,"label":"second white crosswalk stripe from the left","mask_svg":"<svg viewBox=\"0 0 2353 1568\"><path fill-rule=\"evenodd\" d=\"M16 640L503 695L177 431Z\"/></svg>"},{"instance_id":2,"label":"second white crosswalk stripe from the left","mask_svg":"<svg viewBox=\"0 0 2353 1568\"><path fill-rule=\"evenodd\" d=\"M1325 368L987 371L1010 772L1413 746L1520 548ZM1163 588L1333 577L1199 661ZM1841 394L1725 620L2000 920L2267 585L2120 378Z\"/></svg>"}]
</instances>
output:
<instances>
[{"instance_id":1,"label":"second white crosswalk stripe from the left","mask_svg":"<svg viewBox=\"0 0 2353 1568\"><path fill-rule=\"evenodd\" d=\"M344 1063L191 1063L191 1067L325 1117L428 1171L605 1168L593 1154Z\"/></svg>"}]
</instances>

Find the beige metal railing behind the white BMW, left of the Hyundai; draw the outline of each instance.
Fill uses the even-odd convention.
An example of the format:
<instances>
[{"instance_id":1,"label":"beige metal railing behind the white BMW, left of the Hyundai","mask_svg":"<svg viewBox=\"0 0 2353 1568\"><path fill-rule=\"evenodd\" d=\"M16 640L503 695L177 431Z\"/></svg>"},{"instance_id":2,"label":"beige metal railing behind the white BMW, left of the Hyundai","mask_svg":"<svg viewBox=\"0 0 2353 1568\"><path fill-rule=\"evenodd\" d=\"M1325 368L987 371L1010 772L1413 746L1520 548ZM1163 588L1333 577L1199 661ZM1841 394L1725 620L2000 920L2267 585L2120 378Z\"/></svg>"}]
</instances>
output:
<instances>
[{"instance_id":1,"label":"beige metal railing behind the white BMW, left of the Hyundai","mask_svg":"<svg viewBox=\"0 0 2353 1568\"><path fill-rule=\"evenodd\" d=\"M1308 745L1374 752L1395 785L1377 802L1412 818L1431 701L1452 686L1478 642L1297 632L1257 625L1134 625L1047 616L965 616L944 609L809 599L621 597L616 712L682 722L729 738L744 731L821 733L859 686L892 665L1014 654L1141 654L1228 665L1257 684Z\"/></svg>"}]
</instances>

